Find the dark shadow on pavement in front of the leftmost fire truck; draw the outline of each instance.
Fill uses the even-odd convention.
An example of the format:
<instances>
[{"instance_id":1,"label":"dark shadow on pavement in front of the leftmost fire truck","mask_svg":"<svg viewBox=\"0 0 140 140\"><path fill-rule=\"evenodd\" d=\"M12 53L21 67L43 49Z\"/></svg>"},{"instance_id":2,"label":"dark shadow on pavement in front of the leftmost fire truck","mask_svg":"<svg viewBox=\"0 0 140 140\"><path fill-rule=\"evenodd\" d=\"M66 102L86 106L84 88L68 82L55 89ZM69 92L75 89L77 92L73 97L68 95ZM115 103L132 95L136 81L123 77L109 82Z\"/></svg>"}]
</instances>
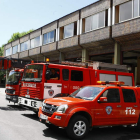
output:
<instances>
[{"instance_id":1,"label":"dark shadow on pavement in front of the leftmost fire truck","mask_svg":"<svg viewBox=\"0 0 140 140\"><path fill-rule=\"evenodd\" d=\"M4 110L4 111L25 111L27 109L22 108L18 105L7 105L6 107L1 107L0 106L0 110Z\"/></svg>"}]
</instances>

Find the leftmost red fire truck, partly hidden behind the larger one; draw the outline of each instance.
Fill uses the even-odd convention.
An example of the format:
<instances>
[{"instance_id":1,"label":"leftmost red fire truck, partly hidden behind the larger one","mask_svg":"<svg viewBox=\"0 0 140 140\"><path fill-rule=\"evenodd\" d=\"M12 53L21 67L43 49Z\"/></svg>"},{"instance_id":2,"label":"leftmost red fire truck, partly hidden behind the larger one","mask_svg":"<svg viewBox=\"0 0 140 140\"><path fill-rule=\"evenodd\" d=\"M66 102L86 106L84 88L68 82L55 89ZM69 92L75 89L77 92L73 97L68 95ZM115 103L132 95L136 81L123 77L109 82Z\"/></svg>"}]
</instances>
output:
<instances>
[{"instance_id":1,"label":"leftmost red fire truck, partly hidden behind the larger one","mask_svg":"<svg viewBox=\"0 0 140 140\"><path fill-rule=\"evenodd\" d=\"M9 102L18 103L20 94L20 82L23 76L24 69L11 70L6 83L6 100Z\"/></svg>"}]
</instances>

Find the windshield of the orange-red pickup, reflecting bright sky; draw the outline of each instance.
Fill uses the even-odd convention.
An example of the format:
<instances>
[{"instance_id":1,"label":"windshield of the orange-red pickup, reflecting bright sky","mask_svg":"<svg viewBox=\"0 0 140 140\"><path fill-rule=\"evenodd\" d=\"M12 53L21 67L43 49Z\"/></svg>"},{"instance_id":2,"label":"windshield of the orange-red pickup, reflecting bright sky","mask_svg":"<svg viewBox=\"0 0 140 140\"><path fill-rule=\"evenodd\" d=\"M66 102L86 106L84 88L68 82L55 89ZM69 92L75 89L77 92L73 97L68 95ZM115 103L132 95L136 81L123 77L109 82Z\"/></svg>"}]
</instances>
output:
<instances>
[{"instance_id":1,"label":"windshield of the orange-red pickup, reflecting bright sky","mask_svg":"<svg viewBox=\"0 0 140 140\"><path fill-rule=\"evenodd\" d=\"M84 87L76 90L70 96L85 100L93 100L104 88L101 87Z\"/></svg>"}]
</instances>

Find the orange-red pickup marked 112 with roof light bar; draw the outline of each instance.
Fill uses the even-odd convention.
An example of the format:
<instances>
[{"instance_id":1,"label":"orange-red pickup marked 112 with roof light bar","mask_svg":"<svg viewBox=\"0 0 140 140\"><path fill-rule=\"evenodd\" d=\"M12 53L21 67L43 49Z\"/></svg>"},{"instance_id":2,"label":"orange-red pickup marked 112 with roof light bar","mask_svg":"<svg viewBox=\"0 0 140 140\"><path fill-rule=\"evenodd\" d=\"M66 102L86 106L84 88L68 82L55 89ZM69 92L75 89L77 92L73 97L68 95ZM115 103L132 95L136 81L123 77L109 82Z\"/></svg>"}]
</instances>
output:
<instances>
[{"instance_id":1,"label":"orange-red pickup marked 112 with roof light bar","mask_svg":"<svg viewBox=\"0 0 140 140\"><path fill-rule=\"evenodd\" d=\"M95 126L136 124L140 131L140 88L117 81L98 83L69 97L46 99L39 108L39 120L48 127L66 128L72 139L84 138Z\"/></svg>"}]
</instances>

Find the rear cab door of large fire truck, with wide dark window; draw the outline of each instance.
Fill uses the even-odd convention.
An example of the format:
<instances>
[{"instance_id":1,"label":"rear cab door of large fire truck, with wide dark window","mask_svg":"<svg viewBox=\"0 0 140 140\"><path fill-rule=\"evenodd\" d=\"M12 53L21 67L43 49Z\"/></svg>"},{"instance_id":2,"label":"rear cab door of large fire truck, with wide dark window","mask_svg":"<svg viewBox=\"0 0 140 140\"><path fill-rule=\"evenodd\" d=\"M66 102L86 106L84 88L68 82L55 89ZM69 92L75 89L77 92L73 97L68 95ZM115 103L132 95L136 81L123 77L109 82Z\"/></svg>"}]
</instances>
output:
<instances>
[{"instance_id":1,"label":"rear cab door of large fire truck, with wide dark window","mask_svg":"<svg viewBox=\"0 0 140 140\"><path fill-rule=\"evenodd\" d=\"M84 71L82 69L77 70L76 68L72 68L70 74L69 93L71 94L80 87L85 86L85 80Z\"/></svg>"}]
</instances>

